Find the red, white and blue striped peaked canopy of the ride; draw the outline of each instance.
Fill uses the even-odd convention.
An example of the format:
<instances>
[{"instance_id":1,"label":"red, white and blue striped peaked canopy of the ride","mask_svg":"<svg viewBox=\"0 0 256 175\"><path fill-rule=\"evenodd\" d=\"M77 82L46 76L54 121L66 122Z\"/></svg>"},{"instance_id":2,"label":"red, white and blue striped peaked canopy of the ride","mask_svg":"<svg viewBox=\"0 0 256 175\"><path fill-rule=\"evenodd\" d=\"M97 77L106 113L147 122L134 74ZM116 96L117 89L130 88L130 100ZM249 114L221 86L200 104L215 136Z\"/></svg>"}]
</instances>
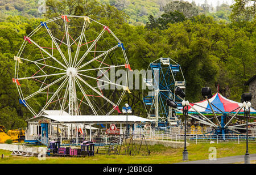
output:
<instances>
[{"instance_id":1,"label":"red, white and blue striped peaked canopy of the ride","mask_svg":"<svg viewBox=\"0 0 256 175\"><path fill-rule=\"evenodd\" d=\"M242 105L242 103L226 99L220 93L215 93L213 97L209 99L209 101L212 104L213 110L217 113L236 113ZM199 101L197 103L190 103L190 105L200 113L212 113L207 100ZM197 113L195 109L191 108L191 106L188 107L188 113ZM243 108L239 113L243 113ZM250 113L256 114L256 110L250 108Z\"/></svg>"}]
</instances>

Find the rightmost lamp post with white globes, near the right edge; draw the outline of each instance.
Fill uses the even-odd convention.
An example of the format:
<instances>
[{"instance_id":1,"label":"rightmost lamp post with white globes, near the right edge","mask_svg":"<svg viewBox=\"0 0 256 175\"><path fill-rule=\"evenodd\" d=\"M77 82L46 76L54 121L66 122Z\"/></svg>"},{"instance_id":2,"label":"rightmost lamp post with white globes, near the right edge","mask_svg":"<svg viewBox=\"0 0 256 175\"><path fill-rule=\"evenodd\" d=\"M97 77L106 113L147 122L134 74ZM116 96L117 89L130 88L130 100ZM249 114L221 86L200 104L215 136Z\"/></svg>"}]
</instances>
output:
<instances>
[{"instance_id":1,"label":"rightmost lamp post with white globes, near the right edge","mask_svg":"<svg viewBox=\"0 0 256 175\"><path fill-rule=\"evenodd\" d=\"M246 117L246 152L245 152L245 164L250 164L250 154L248 149L248 119L250 117L250 107L251 107L251 93L243 93L243 113Z\"/></svg>"}]
</instances>

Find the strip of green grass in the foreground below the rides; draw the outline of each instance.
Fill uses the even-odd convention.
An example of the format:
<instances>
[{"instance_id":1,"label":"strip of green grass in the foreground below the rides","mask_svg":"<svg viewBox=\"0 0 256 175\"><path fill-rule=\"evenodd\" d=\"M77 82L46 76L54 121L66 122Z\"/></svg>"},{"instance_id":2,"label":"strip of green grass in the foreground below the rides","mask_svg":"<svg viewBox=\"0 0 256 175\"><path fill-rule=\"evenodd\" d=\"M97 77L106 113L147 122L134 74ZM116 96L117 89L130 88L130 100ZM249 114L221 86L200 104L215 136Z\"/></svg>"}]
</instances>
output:
<instances>
[{"instance_id":1,"label":"strip of green grass in the foreground below the rides","mask_svg":"<svg viewBox=\"0 0 256 175\"><path fill-rule=\"evenodd\" d=\"M189 161L208 159L209 147L216 147L217 158L226 156L244 155L246 144L219 143L219 144L190 144L187 147ZM149 146L150 155L129 156L129 155L95 155L93 157L46 157L46 160L39 160L37 157L12 156L10 151L0 150L5 154L0 163L47 163L47 164L169 164L182 162L183 148L164 147L162 145ZM142 148L142 152L145 147ZM256 143L249 144L249 153L256 153ZM253 163L253 161L252 161ZM255 161L254 161L255 163Z\"/></svg>"}]
</instances>

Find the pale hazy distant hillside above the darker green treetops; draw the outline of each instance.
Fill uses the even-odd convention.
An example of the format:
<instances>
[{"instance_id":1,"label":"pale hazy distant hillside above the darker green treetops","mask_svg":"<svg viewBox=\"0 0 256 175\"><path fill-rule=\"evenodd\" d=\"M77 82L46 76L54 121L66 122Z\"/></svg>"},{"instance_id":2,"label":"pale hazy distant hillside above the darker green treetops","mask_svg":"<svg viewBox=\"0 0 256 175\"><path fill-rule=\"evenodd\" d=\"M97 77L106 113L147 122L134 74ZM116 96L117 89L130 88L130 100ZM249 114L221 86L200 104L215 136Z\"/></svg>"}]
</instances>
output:
<instances>
[{"instance_id":1,"label":"pale hazy distant hillside above the darker green treetops","mask_svg":"<svg viewBox=\"0 0 256 175\"><path fill-rule=\"evenodd\" d=\"M81 0L75 0L79 3ZM133 25L144 25L148 22L148 16L152 15L154 18L159 18L163 12L175 11L179 9L180 12L188 11L195 14L193 11L197 11L197 14L205 14L207 16L213 16L215 20L225 20L230 22L229 15L231 8L222 4L216 7L216 11L208 12L201 6L197 6L195 3L175 1L175 0L97 0L98 2L111 5L121 10L129 16L126 18L127 23ZM0 0L0 21L7 18L8 15L22 15L27 18L39 18L43 14L38 11L38 7L44 5L44 1L33 0ZM168 6L169 5L169 6ZM172 8L170 8L172 7ZM185 10L182 10L185 9ZM189 10L187 10L189 9ZM185 14L185 17L188 16Z\"/></svg>"}]
</instances>

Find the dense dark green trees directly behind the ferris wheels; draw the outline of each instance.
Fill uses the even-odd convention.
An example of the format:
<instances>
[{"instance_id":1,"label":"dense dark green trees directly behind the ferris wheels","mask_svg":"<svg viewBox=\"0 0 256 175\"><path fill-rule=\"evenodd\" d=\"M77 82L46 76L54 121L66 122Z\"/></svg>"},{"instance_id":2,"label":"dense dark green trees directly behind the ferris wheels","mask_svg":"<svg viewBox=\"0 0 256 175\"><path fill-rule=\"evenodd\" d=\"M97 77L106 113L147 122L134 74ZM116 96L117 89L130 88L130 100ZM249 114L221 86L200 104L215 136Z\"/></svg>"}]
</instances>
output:
<instances>
[{"instance_id":1,"label":"dense dark green trees directly behind the ferris wheels","mask_svg":"<svg viewBox=\"0 0 256 175\"><path fill-rule=\"evenodd\" d=\"M243 84L256 72L255 19L223 23L200 14L185 18L175 11L152 16L146 26L135 26L127 23L126 14L113 6L94 0L68 2L69 5L65 1L48 0L44 19L11 14L0 22L0 125L5 125L7 130L26 126L25 119L32 117L19 104L19 95L12 82L14 56L24 36L40 22L61 14L88 15L108 25L123 42L134 70L147 69L148 64L159 57L174 59L182 67L189 101L202 100L202 87L209 86L216 92L218 84L222 95L240 101L241 94L248 90ZM146 117L142 91L131 92L123 103L131 105L133 114Z\"/></svg>"}]
</instances>

